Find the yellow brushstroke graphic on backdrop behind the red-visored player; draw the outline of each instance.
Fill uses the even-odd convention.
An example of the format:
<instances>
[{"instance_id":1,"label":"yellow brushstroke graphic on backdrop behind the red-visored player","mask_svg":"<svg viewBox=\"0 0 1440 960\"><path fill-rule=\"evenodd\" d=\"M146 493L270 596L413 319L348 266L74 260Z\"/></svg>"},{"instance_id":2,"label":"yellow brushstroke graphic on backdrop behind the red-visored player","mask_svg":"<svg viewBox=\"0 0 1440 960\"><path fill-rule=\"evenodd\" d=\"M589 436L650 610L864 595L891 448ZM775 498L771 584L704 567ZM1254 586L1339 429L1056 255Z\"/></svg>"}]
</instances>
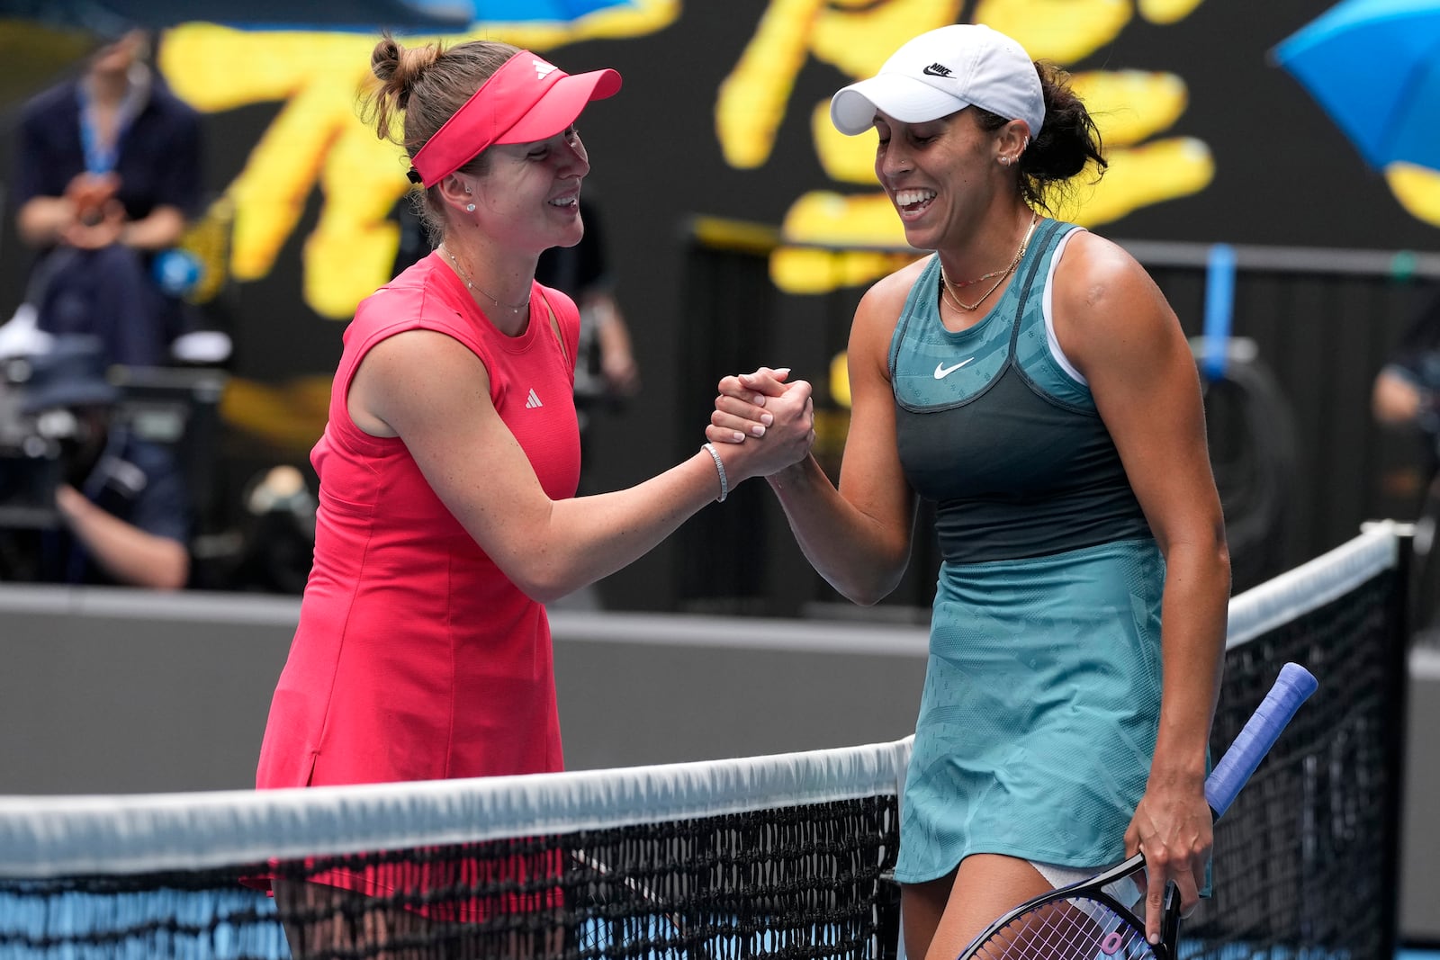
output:
<instances>
[{"instance_id":1,"label":"yellow brushstroke graphic on backdrop behind the red-visored player","mask_svg":"<svg viewBox=\"0 0 1440 960\"><path fill-rule=\"evenodd\" d=\"M540 52L654 33L678 10L680 0L632 0L567 23L477 23L461 35L405 40L484 37ZM374 39L190 23L167 32L160 47L166 79L200 111L281 105L226 190L235 217L230 273L239 281L269 273L318 190L318 222L304 240L304 299L333 320L348 320L389 279L399 246L390 210L409 189L403 153L357 115Z\"/></svg>"}]
</instances>

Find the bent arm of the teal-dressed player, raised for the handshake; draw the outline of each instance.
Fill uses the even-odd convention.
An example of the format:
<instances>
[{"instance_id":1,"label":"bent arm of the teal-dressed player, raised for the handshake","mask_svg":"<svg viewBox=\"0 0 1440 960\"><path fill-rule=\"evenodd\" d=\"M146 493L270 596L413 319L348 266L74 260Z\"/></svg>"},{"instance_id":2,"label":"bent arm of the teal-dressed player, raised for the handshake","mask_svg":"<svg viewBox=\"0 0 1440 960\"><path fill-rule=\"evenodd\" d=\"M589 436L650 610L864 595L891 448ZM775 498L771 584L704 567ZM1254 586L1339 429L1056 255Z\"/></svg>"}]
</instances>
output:
<instances>
[{"instance_id":1,"label":"bent arm of the teal-dressed player, raised for the handshake","mask_svg":"<svg viewBox=\"0 0 1440 960\"><path fill-rule=\"evenodd\" d=\"M894 394L887 357L890 337L909 281L891 276L873 286L855 309L850 331L850 429L840 488L808 456L769 476L796 543L811 566L844 597L863 606L888 596L910 561L916 497L900 466ZM899 299L897 299L899 298ZM759 393L770 410L783 390L769 371L720 381L721 397L707 435L733 443L759 409L747 397ZM753 440L744 439L739 446ZM724 449L724 448L721 448Z\"/></svg>"}]
</instances>

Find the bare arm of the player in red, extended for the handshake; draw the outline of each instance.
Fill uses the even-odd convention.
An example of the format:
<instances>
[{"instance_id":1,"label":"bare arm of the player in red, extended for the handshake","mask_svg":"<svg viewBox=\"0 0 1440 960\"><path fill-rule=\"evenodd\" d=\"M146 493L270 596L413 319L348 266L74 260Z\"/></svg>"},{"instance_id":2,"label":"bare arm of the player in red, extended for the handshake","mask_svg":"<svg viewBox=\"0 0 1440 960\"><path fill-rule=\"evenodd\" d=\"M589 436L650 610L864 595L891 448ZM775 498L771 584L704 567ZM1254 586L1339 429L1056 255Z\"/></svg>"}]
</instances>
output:
<instances>
[{"instance_id":1,"label":"bare arm of the player in red, extended for the handshake","mask_svg":"<svg viewBox=\"0 0 1440 960\"><path fill-rule=\"evenodd\" d=\"M550 499L490 400L484 363L445 334L415 330L376 344L347 407L373 436L397 436L445 507L516 586L536 600L572 593L639 558L720 494L697 449L636 486ZM730 485L793 463L814 438L809 384L770 403L772 427L721 449Z\"/></svg>"}]
</instances>

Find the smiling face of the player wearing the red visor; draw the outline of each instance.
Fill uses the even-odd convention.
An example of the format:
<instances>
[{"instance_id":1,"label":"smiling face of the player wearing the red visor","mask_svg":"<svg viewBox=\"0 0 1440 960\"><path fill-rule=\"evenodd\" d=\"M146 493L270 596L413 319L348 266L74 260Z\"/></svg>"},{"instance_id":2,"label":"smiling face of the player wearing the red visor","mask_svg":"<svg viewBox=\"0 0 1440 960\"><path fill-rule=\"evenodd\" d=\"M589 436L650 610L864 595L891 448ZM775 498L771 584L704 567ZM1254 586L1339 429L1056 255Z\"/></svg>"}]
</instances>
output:
<instances>
[{"instance_id":1,"label":"smiling face of the player wearing the red visor","mask_svg":"<svg viewBox=\"0 0 1440 960\"><path fill-rule=\"evenodd\" d=\"M495 144L485 153L488 167L474 180L471 200L485 233L536 256L580 242L580 183L590 161L573 125L547 140Z\"/></svg>"}]
</instances>

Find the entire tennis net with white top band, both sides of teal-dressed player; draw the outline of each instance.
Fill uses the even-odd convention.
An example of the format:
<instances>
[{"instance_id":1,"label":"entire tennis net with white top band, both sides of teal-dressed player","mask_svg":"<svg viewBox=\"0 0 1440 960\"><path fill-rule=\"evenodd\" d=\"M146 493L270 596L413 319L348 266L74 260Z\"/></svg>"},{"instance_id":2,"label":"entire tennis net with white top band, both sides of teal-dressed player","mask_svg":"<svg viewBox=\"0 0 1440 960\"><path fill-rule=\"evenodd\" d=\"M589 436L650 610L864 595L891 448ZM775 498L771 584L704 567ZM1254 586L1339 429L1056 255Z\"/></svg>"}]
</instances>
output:
<instances>
[{"instance_id":1,"label":"entire tennis net with white top band, both sides of teal-dressed player","mask_svg":"<svg viewBox=\"0 0 1440 960\"><path fill-rule=\"evenodd\" d=\"M1187 956L1391 956L1398 557L1382 527L1231 603L1217 747L1286 661L1320 688L1218 825L1215 897L1185 925ZM0 956L896 956L909 748L0 797Z\"/></svg>"}]
</instances>

